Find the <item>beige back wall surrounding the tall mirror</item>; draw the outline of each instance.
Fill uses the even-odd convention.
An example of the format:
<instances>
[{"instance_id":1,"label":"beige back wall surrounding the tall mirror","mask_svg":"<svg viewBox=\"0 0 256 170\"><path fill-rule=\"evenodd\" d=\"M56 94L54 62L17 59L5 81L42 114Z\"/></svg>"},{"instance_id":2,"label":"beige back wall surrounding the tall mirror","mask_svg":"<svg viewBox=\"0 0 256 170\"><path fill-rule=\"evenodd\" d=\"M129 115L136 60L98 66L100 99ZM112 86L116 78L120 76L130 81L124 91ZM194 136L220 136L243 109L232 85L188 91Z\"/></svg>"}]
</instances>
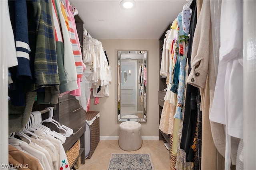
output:
<instances>
[{"instance_id":1,"label":"beige back wall surrounding the tall mirror","mask_svg":"<svg viewBox=\"0 0 256 170\"><path fill-rule=\"evenodd\" d=\"M100 98L94 105L91 97L90 110L100 111L100 137L118 136L120 122L117 122L117 51L148 51L148 116L147 122L141 123L142 136L157 137L159 124L158 89L159 89L159 41L158 39L111 39L99 40L107 52L110 63L112 82L109 96Z\"/></svg>"}]
</instances>

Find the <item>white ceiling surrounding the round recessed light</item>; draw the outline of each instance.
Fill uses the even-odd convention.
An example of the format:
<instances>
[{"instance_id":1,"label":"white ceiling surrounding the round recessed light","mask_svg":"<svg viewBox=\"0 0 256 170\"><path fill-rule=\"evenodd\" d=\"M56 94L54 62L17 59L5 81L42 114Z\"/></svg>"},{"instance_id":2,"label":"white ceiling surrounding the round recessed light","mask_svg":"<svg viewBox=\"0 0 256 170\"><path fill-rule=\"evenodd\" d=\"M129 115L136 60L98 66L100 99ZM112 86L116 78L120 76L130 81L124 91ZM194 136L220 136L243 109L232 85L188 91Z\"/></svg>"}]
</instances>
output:
<instances>
[{"instance_id":1,"label":"white ceiling surrounding the round recessed light","mask_svg":"<svg viewBox=\"0 0 256 170\"><path fill-rule=\"evenodd\" d=\"M123 10L121 0L70 0L95 39L159 39L182 12L186 0L135 0Z\"/></svg>"}]
</instances>

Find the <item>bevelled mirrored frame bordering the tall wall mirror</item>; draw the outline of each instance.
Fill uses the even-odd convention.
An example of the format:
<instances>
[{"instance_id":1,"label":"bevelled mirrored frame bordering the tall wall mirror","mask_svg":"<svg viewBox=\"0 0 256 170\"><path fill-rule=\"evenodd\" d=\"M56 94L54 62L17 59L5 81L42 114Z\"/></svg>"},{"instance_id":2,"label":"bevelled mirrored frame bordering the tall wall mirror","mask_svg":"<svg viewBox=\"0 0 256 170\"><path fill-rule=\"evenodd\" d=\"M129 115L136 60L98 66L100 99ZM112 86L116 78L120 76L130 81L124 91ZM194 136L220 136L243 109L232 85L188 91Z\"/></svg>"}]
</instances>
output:
<instances>
[{"instance_id":1,"label":"bevelled mirrored frame bordering the tall wall mirror","mask_svg":"<svg viewBox=\"0 0 256 170\"><path fill-rule=\"evenodd\" d=\"M118 122L123 122L123 121L138 121L138 122L146 122L147 121L147 101L148 101L148 95L146 95L146 109L143 109L142 114L143 114L143 118L122 118L120 115L122 114L122 108L120 106L120 102L121 102L121 69L118 69L118 64L121 62L121 55L122 54L143 54L143 65L146 65L146 69L148 69L148 61L147 61L147 51L146 50L142 50L142 51L117 51L117 121ZM128 59L129 60L129 59ZM120 77L118 77L120 76ZM144 75L143 75L144 76ZM148 76L146 75L146 80L148 82ZM136 82L136 84L138 84ZM148 84L147 84L148 86ZM145 86L144 86L145 87ZM146 93L147 93L147 89L146 88ZM145 91L144 91L145 93ZM120 95L119 95L120 94ZM144 100L145 101L145 100ZM143 103L142 108L144 108L145 103Z\"/></svg>"}]
</instances>

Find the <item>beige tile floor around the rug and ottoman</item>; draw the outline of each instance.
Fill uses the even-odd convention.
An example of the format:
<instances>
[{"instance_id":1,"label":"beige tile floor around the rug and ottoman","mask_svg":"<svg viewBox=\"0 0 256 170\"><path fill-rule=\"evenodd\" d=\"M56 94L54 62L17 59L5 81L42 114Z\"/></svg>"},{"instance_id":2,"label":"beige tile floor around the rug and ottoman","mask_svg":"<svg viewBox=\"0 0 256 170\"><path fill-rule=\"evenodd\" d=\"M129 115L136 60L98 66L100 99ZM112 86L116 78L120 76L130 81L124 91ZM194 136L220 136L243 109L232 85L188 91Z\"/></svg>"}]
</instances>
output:
<instances>
[{"instance_id":1,"label":"beige tile floor around the rug and ottoman","mask_svg":"<svg viewBox=\"0 0 256 170\"><path fill-rule=\"evenodd\" d=\"M170 170L170 154L164 141L143 140L142 147L135 151L120 149L118 140L102 140L96 147L92 157L85 160L77 170L106 170L111 153L150 153L155 170Z\"/></svg>"}]
</instances>

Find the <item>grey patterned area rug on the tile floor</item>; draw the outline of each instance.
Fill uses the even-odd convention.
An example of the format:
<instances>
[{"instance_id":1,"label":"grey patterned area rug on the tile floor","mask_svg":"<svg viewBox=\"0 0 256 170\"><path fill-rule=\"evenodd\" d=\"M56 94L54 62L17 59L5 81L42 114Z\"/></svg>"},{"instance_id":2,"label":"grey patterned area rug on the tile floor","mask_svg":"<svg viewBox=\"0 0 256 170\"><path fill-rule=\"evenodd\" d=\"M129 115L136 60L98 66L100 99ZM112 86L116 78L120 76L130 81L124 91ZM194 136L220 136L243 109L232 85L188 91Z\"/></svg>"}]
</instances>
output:
<instances>
[{"instance_id":1,"label":"grey patterned area rug on the tile floor","mask_svg":"<svg viewBox=\"0 0 256 170\"><path fill-rule=\"evenodd\" d=\"M150 154L112 153L108 170L154 170Z\"/></svg>"}]
</instances>

